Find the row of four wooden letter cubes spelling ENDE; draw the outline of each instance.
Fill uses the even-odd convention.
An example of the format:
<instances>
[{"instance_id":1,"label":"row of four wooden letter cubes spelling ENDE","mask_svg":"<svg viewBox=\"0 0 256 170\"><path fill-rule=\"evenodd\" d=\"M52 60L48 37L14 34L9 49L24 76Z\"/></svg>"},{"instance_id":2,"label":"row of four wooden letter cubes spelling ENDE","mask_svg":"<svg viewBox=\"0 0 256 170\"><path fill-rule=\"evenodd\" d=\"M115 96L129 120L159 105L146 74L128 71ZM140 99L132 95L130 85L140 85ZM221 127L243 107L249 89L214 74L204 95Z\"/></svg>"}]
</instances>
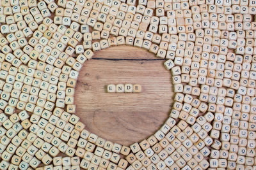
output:
<instances>
[{"instance_id":1,"label":"row of four wooden letter cubes spelling ENDE","mask_svg":"<svg viewBox=\"0 0 256 170\"><path fill-rule=\"evenodd\" d=\"M108 85L108 93L140 93L141 85L138 84L117 84Z\"/></svg>"}]
</instances>

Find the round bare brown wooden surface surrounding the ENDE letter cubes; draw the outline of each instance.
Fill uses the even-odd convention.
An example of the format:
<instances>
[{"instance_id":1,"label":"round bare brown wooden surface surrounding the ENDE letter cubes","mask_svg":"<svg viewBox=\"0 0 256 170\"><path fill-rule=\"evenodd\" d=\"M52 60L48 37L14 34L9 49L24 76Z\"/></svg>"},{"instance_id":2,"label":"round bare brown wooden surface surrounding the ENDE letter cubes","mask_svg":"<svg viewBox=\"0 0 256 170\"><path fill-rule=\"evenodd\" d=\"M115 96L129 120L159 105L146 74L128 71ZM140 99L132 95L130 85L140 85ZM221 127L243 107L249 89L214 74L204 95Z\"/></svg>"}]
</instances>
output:
<instances>
[{"instance_id":1,"label":"round bare brown wooden surface surrounding the ENDE letter cubes","mask_svg":"<svg viewBox=\"0 0 256 170\"><path fill-rule=\"evenodd\" d=\"M77 80L76 115L86 129L101 138L131 145L154 134L173 104L170 71L164 60L133 46L95 52L84 63ZM140 94L110 94L111 83L139 83Z\"/></svg>"}]
</instances>

